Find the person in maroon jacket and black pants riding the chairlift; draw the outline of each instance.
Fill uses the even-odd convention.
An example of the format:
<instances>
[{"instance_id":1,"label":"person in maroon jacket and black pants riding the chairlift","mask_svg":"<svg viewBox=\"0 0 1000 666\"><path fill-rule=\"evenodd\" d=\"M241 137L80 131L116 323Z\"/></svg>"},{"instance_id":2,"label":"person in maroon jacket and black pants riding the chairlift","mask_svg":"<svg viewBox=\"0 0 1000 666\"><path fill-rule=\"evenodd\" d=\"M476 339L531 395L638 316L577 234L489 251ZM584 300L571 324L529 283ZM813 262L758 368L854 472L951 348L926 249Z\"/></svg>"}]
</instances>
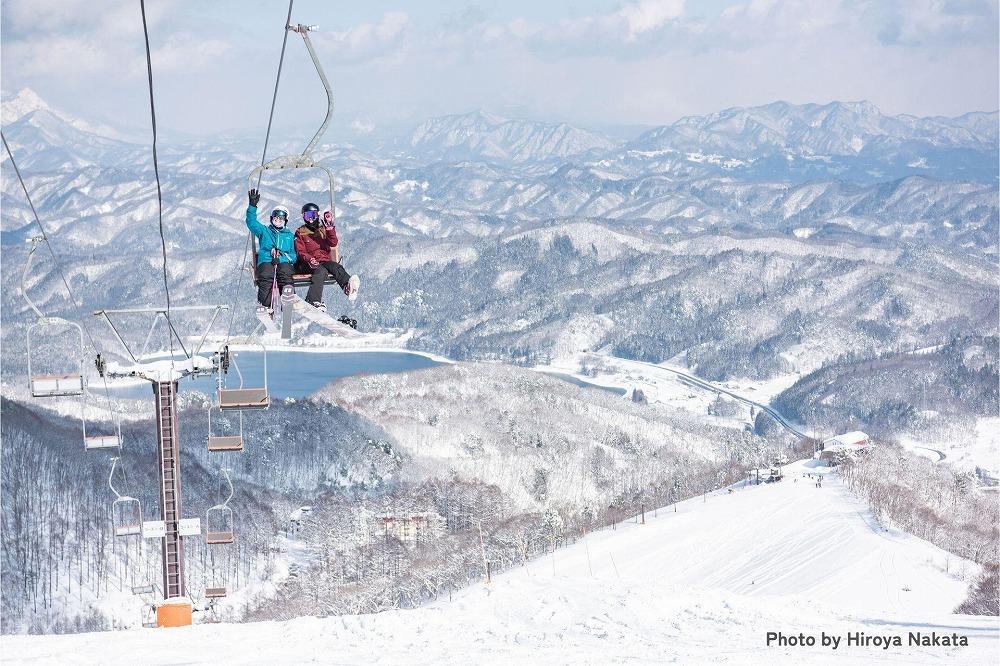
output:
<instances>
[{"instance_id":1,"label":"person in maroon jacket and black pants riding the chairlift","mask_svg":"<svg viewBox=\"0 0 1000 666\"><path fill-rule=\"evenodd\" d=\"M312 284L306 293L306 301L326 310L323 303L323 282L328 275L333 276L347 294L348 300L355 300L361 280L357 275L350 275L339 263L340 250L337 248L337 227L333 212L325 211L321 220L319 206L307 203L302 207L302 222L302 226L295 230L295 252L298 254L299 267L304 272L312 273Z\"/></svg>"}]
</instances>

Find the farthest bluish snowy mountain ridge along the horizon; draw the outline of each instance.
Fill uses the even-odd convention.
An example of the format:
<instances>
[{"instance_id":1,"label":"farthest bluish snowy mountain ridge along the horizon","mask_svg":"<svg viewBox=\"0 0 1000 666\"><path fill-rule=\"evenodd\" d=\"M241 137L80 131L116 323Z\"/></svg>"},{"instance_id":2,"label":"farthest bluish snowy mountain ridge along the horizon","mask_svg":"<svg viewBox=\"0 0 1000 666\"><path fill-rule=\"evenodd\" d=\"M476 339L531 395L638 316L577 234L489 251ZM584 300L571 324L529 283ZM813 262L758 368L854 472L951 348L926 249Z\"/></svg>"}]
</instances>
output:
<instances>
[{"instance_id":1,"label":"farthest bluish snowy mountain ridge along the horizon","mask_svg":"<svg viewBox=\"0 0 1000 666\"><path fill-rule=\"evenodd\" d=\"M54 151L27 158L42 168L148 161L136 153L141 146L122 133L54 110L28 89L4 99L3 123L16 143ZM883 114L867 101L779 101L687 116L622 142L566 123L509 119L477 110L426 120L409 135L378 144L373 156L428 167L463 162L586 164L627 177L656 173L674 179L723 176L755 182L832 179L871 184L925 176L996 185L998 128L997 111L921 118ZM236 147L218 136L182 139L178 145L183 144L186 161L194 164L198 158L193 150L204 153L220 142L220 148L246 153L245 145ZM320 152L324 148L330 145Z\"/></svg>"}]
</instances>

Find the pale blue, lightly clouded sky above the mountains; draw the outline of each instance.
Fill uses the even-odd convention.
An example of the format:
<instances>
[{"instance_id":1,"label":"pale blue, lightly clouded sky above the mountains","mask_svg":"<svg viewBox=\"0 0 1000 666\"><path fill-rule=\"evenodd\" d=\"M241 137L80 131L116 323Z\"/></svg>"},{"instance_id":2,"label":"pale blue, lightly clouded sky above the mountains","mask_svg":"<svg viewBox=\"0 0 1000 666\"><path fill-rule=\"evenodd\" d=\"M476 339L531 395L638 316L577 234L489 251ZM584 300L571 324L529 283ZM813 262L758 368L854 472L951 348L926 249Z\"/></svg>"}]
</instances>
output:
<instances>
[{"instance_id":1,"label":"pale blue, lightly clouded sky above the mountains","mask_svg":"<svg viewBox=\"0 0 1000 666\"><path fill-rule=\"evenodd\" d=\"M2 10L5 94L27 86L83 118L146 122L138 0ZM286 10L148 0L164 128L266 124ZM1000 105L996 0L296 0L293 20L319 24L335 122L357 131L476 108L600 128L776 99L917 115ZM309 124L321 102L291 35L276 120Z\"/></svg>"}]
</instances>

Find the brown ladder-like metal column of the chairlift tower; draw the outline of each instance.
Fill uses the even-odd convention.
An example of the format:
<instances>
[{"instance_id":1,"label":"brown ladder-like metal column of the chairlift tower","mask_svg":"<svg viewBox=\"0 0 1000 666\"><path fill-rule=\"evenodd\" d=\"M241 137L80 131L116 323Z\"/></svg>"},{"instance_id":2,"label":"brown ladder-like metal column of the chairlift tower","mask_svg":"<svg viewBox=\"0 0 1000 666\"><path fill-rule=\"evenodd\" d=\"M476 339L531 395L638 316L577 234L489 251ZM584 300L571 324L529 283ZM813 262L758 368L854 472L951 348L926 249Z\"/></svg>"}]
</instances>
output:
<instances>
[{"instance_id":1,"label":"brown ladder-like metal column of the chairlift tower","mask_svg":"<svg viewBox=\"0 0 1000 666\"><path fill-rule=\"evenodd\" d=\"M174 399L176 382L153 385L157 399L157 429L160 454L161 512L166 524L163 539L163 593L167 599L184 596L183 544L178 531L180 520L180 460Z\"/></svg>"}]
</instances>

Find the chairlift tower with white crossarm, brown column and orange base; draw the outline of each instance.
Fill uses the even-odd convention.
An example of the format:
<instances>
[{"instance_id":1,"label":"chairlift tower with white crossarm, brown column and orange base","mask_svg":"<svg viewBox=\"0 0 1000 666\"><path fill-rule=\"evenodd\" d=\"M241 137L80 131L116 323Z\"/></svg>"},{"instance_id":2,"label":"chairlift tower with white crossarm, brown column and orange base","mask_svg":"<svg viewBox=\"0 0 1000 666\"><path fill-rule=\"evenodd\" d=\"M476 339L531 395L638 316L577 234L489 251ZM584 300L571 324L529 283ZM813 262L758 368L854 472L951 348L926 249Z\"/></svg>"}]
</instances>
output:
<instances>
[{"instance_id":1,"label":"chairlift tower with white crossarm, brown column and orange base","mask_svg":"<svg viewBox=\"0 0 1000 666\"><path fill-rule=\"evenodd\" d=\"M160 470L160 520L145 522L142 525L144 538L162 538L163 553L163 602L156 608L156 624L160 627L175 627L191 624L191 602L187 598L187 586L184 580L184 541L185 536L201 534L201 521L198 518L182 518L181 513L181 440L177 418L177 391L181 379L211 375L227 365L228 359L223 358L227 351L213 353L210 357L201 354L201 349L208 332L219 313L228 310L227 305L193 305L172 306L170 313L183 311L212 311L212 317L198 344L188 350L181 336L174 328L168 316L166 307L134 308L122 310L98 310L94 316L101 317L111 328L115 338L128 355L130 362L125 365L108 364L98 357L98 371L102 376L113 378L140 378L149 381L153 388L153 398L156 404L156 453ZM125 342L112 316L120 315L153 315L149 332L142 349L136 355ZM150 360L147 348L157 323L163 319L167 326L167 335L180 346L183 359L173 357L163 360Z\"/></svg>"}]
</instances>

